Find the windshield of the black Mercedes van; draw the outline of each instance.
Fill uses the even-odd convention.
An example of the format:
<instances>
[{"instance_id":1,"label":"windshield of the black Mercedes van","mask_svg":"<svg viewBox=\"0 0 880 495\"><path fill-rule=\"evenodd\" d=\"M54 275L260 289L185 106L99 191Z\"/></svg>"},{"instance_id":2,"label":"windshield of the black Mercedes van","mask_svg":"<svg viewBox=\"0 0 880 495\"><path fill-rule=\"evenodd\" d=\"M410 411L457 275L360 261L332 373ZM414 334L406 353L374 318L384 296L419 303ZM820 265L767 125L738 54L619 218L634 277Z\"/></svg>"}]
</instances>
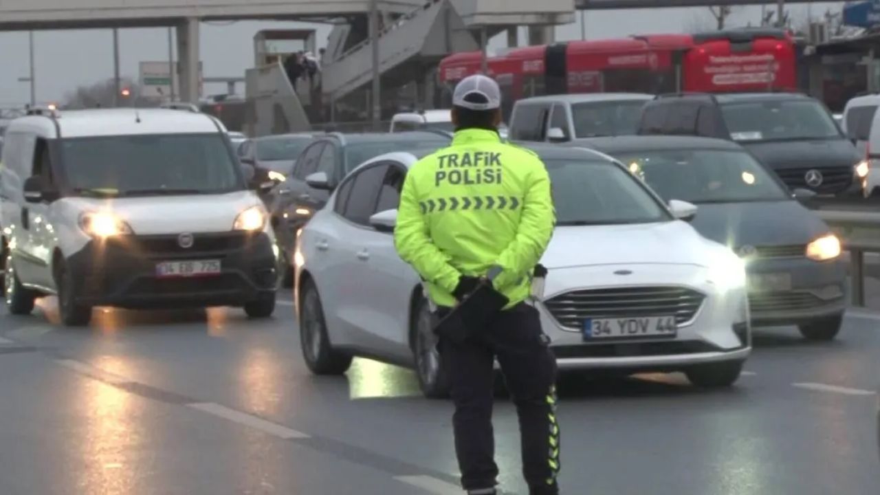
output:
<instances>
[{"instance_id":1,"label":"windshield of the black Mercedes van","mask_svg":"<svg viewBox=\"0 0 880 495\"><path fill-rule=\"evenodd\" d=\"M734 141L789 141L840 137L840 128L815 100L748 101L722 105Z\"/></svg>"}]
</instances>

